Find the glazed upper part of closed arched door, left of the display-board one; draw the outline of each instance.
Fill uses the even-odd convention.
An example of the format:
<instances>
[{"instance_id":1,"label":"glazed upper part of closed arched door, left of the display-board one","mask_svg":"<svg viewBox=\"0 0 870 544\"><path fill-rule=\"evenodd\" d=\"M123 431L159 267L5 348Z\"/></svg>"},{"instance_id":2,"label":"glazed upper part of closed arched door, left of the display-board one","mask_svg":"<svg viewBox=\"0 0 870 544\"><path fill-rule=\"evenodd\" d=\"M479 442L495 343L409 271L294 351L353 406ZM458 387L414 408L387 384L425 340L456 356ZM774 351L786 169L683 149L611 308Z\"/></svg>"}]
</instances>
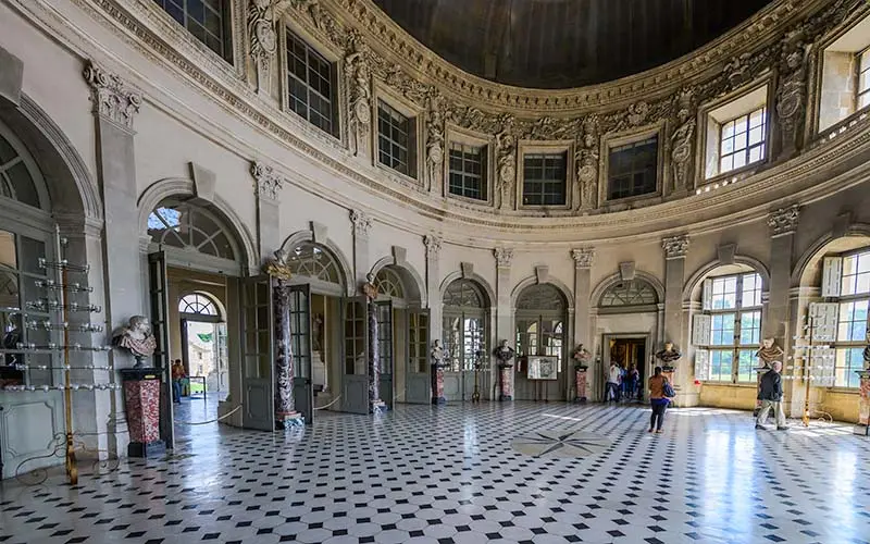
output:
<instances>
[{"instance_id":1,"label":"glazed upper part of closed arched door, left of the display-board one","mask_svg":"<svg viewBox=\"0 0 870 544\"><path fill-rule=\"evenodd\" d=\"M487 355L486 295L471 280L456 280L444 293L443 342L450 372L473 370Z\"/></svg>"}]
</instances>

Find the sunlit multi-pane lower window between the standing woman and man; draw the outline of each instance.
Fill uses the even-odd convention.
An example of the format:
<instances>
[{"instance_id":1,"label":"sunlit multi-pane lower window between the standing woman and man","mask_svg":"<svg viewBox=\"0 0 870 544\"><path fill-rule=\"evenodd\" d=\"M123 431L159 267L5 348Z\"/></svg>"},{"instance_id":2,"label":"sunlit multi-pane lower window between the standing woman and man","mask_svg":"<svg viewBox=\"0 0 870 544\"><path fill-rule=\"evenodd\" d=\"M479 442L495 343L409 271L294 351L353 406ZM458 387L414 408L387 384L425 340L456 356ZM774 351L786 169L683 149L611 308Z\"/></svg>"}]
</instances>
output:
<instances>
[{"instance_id":1,"label":"sunlit multi-pane lower window between the standing woman and man","mask_svg":"<svg viewBox=\"0 0 870 544\"><path fill-rule=\"evenodd\" d=\"M755 276L755 281L757 282L755 288L750 289L751 293L757 293L758 304L753 304L745 306L744 305L744 296L746 292L744 289L744 283L748 276ZM716 285L717 282L722 281L725 282L730 279L734 279L734 306L733 307L724 307L724 308L716 308L713 305L713 299L717 297L716 293ZM761 276L758 271L744 271L744 272L736 272L736 273L729 273L729 274L721 274L721 275L711 275L707 276L704 280L704 287L703 289L706 292L709 289L709 293L704 293L703 297L709 297L709 308L703 308L701 314L710 317L710 329L709 333L709 342L707 344L694 344L693 345L697 349L704 349L707 351L707 375L705 376L696 376L703 382L713 383L713 384L722 384L722 385L749 385L756 383L756 373L755 369L757 368L757 357L755 354L759 349L759 345L761 344L761 336L762 336L762 326L763 326L763 319L765 319L765 300L763 300L763 277ZM708 283L709 282L709 283ZM709 287L708 287L709 285ZM732 292L723 290L722 295L725 296ZM706 304L705 304L706 305ZM754 323L757 323L757 326L753 326L754 330L753 336L749 338L748 343L743 343L743 318L745 316L753 316ZM721 329L717 329L717 317L721 317L722 321L725 317L731 317L731 321L729 323L722 323L723 325L732 325L731 329L723 326ZM694 325L693 325L694 326ZM717 331L722 333L730 332L732 335L732 342L730 344L725 343L717 343L714 338L717 336ZM693 331L694 335L694 331ZM741 355L742 354L749 354L751 368L749 370L749 376L745 380L741 380ZM729 379L724 380L721 372L718 373L719 378L713 378L713 368L714 368L714 360L717 358L717 354L721 357L723 354L729 354L731 357L731 372L729 374Z\"/></svg>"}]
</instances>

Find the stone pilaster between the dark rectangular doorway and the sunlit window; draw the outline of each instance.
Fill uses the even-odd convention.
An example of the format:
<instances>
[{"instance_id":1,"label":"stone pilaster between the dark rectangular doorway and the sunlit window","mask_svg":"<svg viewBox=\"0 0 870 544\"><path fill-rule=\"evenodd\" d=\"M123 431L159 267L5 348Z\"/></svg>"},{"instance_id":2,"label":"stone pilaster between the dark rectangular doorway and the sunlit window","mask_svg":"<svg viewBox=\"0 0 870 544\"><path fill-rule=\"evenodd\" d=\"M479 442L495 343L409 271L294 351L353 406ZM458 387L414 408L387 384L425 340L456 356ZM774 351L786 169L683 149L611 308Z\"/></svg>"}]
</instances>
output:
<instances>
[{"instance_id":1,"label":"stone pilaster between the dark rectangular doorway and the sunlit window","mask_svg":"<svg viewBox=\"0 0 870 544\"><path fill-rule=\"evenodd\" d=\"M685 282L686 252L688 236L671 236L661 240L664 249L664 342L672 342L684 355L674 361L674 374L671 383L676 392L676 405L685 403L688 378L688 357L685 356L687 335L684 334L683 322L683 284ZM662 349L656 346L654 353Z\"/></svg>"}]
</instances>

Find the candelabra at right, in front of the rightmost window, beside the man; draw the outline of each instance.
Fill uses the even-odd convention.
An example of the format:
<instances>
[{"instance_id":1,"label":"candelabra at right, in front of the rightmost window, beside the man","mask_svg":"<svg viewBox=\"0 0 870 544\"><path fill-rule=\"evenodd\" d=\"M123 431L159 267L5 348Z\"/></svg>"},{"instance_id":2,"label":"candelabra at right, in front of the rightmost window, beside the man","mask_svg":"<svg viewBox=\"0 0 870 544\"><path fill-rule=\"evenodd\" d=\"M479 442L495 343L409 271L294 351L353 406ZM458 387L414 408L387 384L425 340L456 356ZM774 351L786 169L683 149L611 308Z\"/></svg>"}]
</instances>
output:
<instances>
[{"instance_id":1,"label":"candelabra at right, in front of the rightmost window, beside the man","mask_svg":"<svg viewBox=\"0 0 870 544\"><path fill-rule=\"evenodd\" d=\"M786 380L804 381L804 426L809 426L812 411L826 419L831 416L823 410L813 408L810 403L810 386L832 386L834 384L835 350L829 343L836 338L836 319L831 319L828 306L824 304L810 304L806 320L801 319L795 335L795 355L788 359L793 362L788 367Z\"/></svg>"}]
</instances>

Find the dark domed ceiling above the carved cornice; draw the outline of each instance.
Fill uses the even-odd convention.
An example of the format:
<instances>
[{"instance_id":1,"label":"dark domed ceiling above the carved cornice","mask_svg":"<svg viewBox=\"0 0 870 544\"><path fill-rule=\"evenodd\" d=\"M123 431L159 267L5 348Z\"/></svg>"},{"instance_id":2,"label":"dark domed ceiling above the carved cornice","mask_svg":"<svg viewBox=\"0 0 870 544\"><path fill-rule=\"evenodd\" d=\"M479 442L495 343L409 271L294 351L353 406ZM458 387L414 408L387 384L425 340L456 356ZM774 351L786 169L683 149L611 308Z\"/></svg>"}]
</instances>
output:
<instances>
[{"instance_id":1,"label":"dark domed ceiling above the carved cornice","mask_svg":"<svg viewBox=\"0 0 870 544\"><path fill-rule=\"evenodd\" d=\"M608 82L721 36L769 0L374 0L460 69L520 87Z\"/></svg>"}]
</instances>

